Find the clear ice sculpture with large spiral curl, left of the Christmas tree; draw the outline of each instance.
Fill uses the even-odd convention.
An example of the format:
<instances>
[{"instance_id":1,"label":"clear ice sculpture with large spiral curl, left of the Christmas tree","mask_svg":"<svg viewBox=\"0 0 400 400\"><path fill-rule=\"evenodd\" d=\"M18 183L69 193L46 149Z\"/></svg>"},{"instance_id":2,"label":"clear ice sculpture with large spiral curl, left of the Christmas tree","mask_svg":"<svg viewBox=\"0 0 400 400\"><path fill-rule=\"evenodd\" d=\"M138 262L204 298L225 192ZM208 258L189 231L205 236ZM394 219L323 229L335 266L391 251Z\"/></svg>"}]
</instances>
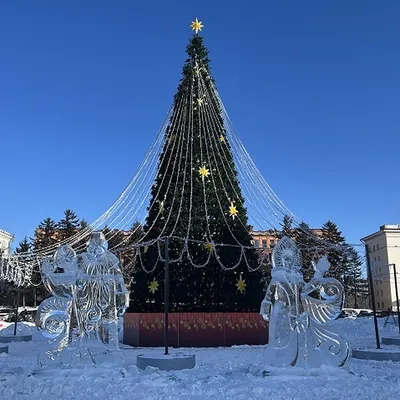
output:
<instances>
[{"instance_id":1,"label":"clear ice sculpture with large spiral curl, left of the Christmas tree","mask_svg":"<svg viewBox=\"0 0 400 400\"><path fill-rule=\"evenodd\" d=\"M67 347L78 357L83 349L118 350L118 317L129 296L118 258L107 247L104 235L94 232L86 252L76 254L64 245L42 264L52 297L40 304L36 325L55 344L47 353L52 358Z\"/></svg>"}]
</instances>

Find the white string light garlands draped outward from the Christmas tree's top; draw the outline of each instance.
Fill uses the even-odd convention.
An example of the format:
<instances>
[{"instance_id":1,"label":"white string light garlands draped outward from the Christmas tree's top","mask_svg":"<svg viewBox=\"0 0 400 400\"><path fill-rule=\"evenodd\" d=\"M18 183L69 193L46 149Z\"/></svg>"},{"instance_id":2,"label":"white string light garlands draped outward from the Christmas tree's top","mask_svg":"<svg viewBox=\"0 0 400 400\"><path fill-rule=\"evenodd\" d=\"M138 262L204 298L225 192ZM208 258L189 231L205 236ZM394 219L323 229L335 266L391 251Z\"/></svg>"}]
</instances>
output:
<instances>
[{"instance_id":1,"label":"white string light garlands draped outward from the Christmas tree's top","mask_svg":"<svg viewBox=\"0 0 400 400\"><path fill-rule=\"evenodd\" d=\"M204 28L197 18L190 26L195 35ZM196 58L190 71L191 81L185 95L170 108L137 172L108 210L85 229L61 243L30 253L3 255L0 259L0 279L15 282L17 286L37 284L33 277L38 273L44 257L53 254L61 244L70 244L80 251L93 231L105 227L108 228L106 239L110 243L119 233L124 233L123 240L110 247L110 250L121 257L130 252L130 257L137 259L148 273L163 260L162 243L165 236L175 238L182 244L181 251L170 260L171 263L181 262L187 257L192 265L201 268L207 265L211 257L216 257L222 269L230 270L245 264L249 270L254 270L254 266L249 265L246 255L253 247L243 245L235 236L232 224L240 224L250 235L252 230L277 232L285 215L293 218L294 229L309 235L317 243L312 249L308 247L308 250L317 252L335 248L346 251L345 247L328 243L302 229L300 220L274 193L235 135L207 65L203 65L201 60ZM200 150L196 155L193 148L195 142L199 144ZM230 157L233 158L233 163L230 162ZM161 165L164 169L159 168ZM193 190L199 177L202 192L194 198ZM207 195L206 187L207 190L211 190L213 196ZM238 187L241 193L238 192ZM213 207L211 197L215 202ZM185 198L189 199L188 206L184 203ZM204 205L205 221L215 218L215 215L210 214L211 209L219 213L224 228L231 236L230 243L218 243L209 222L206 223L204 237L191 237L195 201L201 201ZM246 209L248 221L243 219L245 216L240 211ZM142 232L146 217L151 212L155 212L156 217L152 224L146 227L146 231ZM183 216L187 217L186 234L176 235ZM137 223L137 226L132 229L134 223ZM167 232L171 223L172 229ZM149 233L156 224L161 229L157 236L150 237ZM132 243L138 233L141 234ZM203 262L194 260L189 246L191 243L198 243L208 250L208 257ZM152 265L144 265L143 256L146 249L153 246L157 248L158 257ZM224 247L239 250L234 264L226 265L219 257L219 252ZM265 255L260 257L260 265L257 268L266 262ZM158 284L157 281L151 282L153 286L149 287L149 290L158 290L158 286L154 286L156 283ZM246 286L242 288L245 290ZM239 287L238 290L242 293Z\"/></svg>"}]
</instances>

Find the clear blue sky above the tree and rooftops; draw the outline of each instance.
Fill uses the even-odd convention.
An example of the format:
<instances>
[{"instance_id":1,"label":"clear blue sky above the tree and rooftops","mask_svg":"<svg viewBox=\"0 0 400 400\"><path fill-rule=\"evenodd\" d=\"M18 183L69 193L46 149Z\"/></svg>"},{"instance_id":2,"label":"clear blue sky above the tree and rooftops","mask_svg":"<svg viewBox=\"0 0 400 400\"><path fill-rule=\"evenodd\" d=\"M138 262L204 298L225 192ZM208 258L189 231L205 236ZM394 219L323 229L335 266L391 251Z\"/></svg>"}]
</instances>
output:
<instances>
[{"instance_id":1,"label":"clear blue sky above the tree and rooftops","mask_svg":"<svg viewBox=\"0 0 400 400\"><path fill-rule=\"evenodd\" d=\"M235 132L283 202L350 242L399 223L399 1L36 0L0 5L0 228L17 242L111 205L196 16Z\"/></svg>"}]
</instances>

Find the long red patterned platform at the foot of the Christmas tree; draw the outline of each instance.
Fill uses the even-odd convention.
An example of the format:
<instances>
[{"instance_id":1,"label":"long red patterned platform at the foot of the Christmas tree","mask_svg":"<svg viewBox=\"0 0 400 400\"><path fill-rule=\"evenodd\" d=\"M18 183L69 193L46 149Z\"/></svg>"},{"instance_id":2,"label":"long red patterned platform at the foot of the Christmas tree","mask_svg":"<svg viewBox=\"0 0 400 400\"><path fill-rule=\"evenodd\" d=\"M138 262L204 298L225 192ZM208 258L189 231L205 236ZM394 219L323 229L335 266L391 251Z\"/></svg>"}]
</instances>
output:
<instances>
[{"instance_id":1,"label":"long red patterned platform at the foot of the Christmas tree","mask_svg":"<svg viewBox=\"0 0 400 400\"><path fill-rule=\"evenodd\" d=\"M171 347L268 343L268 325L258 313L170 313L168 325ZM164 314L125 313L123 343L164 346Z\"/></svg>"}]
</instances>

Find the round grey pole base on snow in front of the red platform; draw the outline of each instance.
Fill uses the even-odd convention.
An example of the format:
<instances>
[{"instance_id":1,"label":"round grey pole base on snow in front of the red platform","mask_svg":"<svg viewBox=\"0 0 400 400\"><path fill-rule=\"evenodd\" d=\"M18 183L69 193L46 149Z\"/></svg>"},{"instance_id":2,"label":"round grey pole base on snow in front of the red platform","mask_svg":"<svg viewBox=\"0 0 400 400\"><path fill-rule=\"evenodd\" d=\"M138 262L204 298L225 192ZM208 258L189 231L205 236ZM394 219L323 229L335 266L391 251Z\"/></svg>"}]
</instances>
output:
<instances>
[{"instance_id":1,"label":"round grey pole base on snow in front of the red platform","mask_svg":"<svg viewBox=\"0 0 400 400\"><path fill-rule=\"evenodd\" d=\"M137 356L136 365L139 369L147 367L159 368L163 371L177 371L191 369L196 365L194 354L175 353L160 355L159 353L146 353Z\"/></svg>"}]
</instances>

